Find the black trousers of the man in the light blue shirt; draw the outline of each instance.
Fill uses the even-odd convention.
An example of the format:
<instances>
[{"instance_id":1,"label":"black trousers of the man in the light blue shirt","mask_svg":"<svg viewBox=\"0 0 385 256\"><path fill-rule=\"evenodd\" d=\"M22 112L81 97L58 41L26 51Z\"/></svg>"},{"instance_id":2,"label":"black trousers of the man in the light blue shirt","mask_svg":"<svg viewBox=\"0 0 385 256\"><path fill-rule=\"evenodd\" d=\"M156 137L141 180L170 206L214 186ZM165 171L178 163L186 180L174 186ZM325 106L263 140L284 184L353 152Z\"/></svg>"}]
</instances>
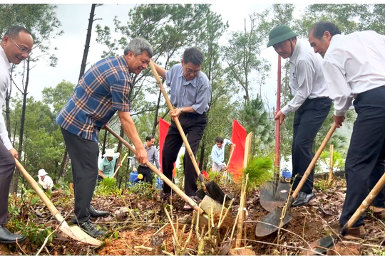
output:
<instances>
[{"instance_id":1,"label":"black trousers of the man in the light blue shirt","mask_svg":"<svg viewBox=\"0 0 385 256\"><path fill-rule=\"evenodd\" d=\"M195 155L197 153L200 140L207 124L207 114L183 113L179 117L179 122L183 128L183 132L187 134L188 143ZM165 138L165 144L162 151L162 169L163 174L170 180L173 178L174 163L178 157L183 139L180 136L178 127L175 122L171 122L168 134ZM185 170L185 193L187 196L195 196L197 191L197 173L186 149L183 158L183 168ZM163 191L168 193L171 191L170 186L163 183Z\"/></svg>"}]
</instances>

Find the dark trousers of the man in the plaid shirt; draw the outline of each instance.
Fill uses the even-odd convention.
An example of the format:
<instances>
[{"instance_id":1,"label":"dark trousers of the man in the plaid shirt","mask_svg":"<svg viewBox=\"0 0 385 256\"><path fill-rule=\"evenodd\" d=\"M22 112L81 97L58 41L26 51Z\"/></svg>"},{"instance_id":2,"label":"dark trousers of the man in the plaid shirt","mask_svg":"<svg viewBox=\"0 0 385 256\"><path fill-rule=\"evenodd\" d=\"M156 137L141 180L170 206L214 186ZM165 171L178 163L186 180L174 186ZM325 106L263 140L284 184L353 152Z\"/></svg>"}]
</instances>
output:
<instances>
[{"instance_id":1,"label":"dark trousers of the man in the plaid shirt","mask_svg":"<svg viewBox=\"0 0 385 256\"><path fill-rule=\"evenodd\" d=\"M61 129L68 155L71 159L73 192L75 194L74 213L78 223L89 221L93 191L98 177L98 142L78 137Z\"/></svg>"}]
</instances>

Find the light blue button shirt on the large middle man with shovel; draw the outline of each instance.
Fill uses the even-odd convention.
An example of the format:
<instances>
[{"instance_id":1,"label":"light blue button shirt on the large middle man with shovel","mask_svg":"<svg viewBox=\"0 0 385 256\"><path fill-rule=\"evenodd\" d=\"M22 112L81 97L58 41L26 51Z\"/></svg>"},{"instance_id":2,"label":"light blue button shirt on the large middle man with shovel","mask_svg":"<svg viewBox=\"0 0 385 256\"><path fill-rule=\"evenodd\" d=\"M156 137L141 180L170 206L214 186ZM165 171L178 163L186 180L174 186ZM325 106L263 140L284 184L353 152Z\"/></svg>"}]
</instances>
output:
<instances>
[{"instance_id":1,"label":"light blue button shirt on the large middle man with shovel","mask_svg":"<svg viewBox=\"0 0 385 256\"><path fill-rule=\"evenodd\" d=\"M171 103L175 107L193 107L198 114L209 110L211 86L205 73L201 71L196 78L187 81L182 64L175 64L165 72L165 78L171 89Z\"/></svg>"}]
</instances>

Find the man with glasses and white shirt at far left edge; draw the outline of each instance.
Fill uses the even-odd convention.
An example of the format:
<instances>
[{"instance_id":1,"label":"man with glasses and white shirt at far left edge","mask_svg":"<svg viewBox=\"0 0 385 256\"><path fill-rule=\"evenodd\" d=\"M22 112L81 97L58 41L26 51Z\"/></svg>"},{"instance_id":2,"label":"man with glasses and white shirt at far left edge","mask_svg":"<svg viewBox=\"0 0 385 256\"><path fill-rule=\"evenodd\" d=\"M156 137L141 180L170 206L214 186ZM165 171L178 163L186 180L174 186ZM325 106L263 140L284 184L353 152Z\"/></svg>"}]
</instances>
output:
<instances>
[{"instance_id":1,"label":"man with glasses and white shirt at far left edge","mask_svg":"<svg viewBox=\"0 0 385 256\"><path fill-rule=\"evenodd\" d=\"M9 70L13 64L19 64L31 54L34 39L31 33L21 26L11 26L0 43L0 106L3 105L6 90L11 85ZM0 108L0 242L9 244L24 241L22 235L16 235L6 229L8 218L9 186L15 170L14 157L19 158L12 147L6 131L3 114Z\"/></svg>"}]
</instances>

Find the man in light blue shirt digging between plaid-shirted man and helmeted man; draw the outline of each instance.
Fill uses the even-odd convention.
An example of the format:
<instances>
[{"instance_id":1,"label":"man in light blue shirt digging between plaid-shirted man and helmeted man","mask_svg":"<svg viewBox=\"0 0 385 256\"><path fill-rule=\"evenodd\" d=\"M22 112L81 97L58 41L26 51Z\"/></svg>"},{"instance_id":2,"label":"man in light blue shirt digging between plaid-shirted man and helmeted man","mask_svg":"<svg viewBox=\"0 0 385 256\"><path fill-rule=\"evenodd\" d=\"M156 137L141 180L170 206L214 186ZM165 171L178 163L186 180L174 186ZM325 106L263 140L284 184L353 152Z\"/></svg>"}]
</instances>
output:
<instances>
[{"instance_id":1,"label":"man in light blue shirt digging between plaid-shirted man and helmeted man","mask_svg":"<svg viewBox=\"0 0 385 256\"><path fill-rule=\"evenodd\" d=\"M200 139L207 124L207 111L211 99L211 86L205 73L202 73L204 55L196 47L187 48L183 53L180 64L173 65L170 70L160 68L155 64L158 74L167 81L170 86L171 102L176 107L170 112L171 119L178 117L183 131L188 136L188 143L194 154L196 154ZM173 178L174 163L178 152L183 144L178 127L171 122L170 129L165 138L162 154L163 174ZM185 169L185 193L195 198L197 191L197 173L193 162L187 151L183 159ZM171 188L163 183L163 193L160 198L170 197ZM186 203L183 210L191 210L192 207Z\"/></svg>"}]
</instances>

